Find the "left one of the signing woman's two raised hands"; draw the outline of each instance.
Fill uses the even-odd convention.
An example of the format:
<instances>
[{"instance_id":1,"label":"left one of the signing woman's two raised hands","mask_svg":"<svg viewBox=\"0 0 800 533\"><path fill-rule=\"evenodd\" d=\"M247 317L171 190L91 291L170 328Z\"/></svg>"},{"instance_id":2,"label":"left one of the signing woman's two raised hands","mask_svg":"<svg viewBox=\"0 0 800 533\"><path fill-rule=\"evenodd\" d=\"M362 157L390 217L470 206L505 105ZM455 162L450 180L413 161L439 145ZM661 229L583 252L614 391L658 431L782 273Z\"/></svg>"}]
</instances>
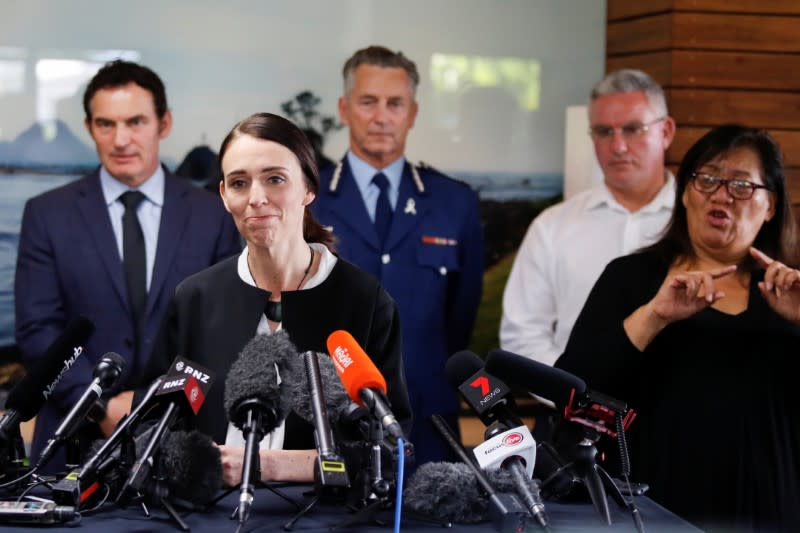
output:
<instances>
[{"instance_id":1,"label":"left one of the signing woman's two raised hands","mask_svg":"<svg viewBox=\"0 0 800 533\"><path fill-rule=\"evenodd\" d=\"M714 290L714 280L734 272L736 265L669 274L648 306L664 324L683 320L724 298L723 291Z\"/></svg>"}]
</instances>

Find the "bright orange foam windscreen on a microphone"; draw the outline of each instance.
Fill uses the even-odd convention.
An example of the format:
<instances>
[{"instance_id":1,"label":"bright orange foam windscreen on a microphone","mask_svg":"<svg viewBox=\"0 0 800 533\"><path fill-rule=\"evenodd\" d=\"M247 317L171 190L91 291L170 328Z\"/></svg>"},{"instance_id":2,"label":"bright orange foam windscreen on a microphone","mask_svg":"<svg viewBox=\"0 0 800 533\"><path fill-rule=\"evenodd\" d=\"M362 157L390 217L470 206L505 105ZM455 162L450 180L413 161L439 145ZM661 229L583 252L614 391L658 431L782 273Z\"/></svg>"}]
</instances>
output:
<instances>
[{"instance_id":1,"label":"bright orange foam windscreen on a microphone","mask_svg":"<svg viewBox=\"0 0 800 533\"><path fill-rule=\"evenodd\" d=\"M337 330L328 336L328 353L350 399L359 405L361 389L373 389L386 394L386 380L372 359L350 333Z\"/></svg>"}]
</instances>

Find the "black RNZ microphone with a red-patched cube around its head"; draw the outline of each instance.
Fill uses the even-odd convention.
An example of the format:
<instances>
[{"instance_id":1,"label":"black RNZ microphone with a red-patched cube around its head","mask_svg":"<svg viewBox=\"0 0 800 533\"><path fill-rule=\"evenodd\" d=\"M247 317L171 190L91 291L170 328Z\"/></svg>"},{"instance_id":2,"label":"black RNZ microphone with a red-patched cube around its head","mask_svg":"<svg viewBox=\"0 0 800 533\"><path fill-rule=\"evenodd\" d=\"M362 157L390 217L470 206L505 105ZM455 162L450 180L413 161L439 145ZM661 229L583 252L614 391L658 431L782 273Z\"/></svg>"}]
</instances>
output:
<instances>
[{"instance_id":1,"label":"black RNZ microphone with a red-patched cube around its head","mask_svg":"<svg viewBox=\"0 0 800 533\"><path fill-rule=\"evenodd\" d=\"M155 393L160 400L159 403L163 403L164 411L144 451L138 453L139 450L136 450L138 454L136 461L117 496L117 504L124 505L129 498L139 494L150 475L154 464L153 456L162 445L165 433L174 425L181 411L191 410L197 414L213 382L212 373L207 368L181 356L175 358L170 371Z\"/></svg>"}]
</instances>

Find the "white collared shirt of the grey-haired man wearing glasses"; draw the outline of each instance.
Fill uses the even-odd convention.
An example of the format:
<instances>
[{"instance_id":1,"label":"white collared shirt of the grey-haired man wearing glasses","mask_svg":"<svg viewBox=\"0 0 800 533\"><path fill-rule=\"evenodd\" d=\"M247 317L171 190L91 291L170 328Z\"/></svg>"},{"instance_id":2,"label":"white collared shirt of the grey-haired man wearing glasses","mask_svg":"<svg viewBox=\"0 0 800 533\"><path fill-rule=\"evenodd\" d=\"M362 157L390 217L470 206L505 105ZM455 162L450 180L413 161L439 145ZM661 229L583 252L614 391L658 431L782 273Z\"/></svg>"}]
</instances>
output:
<instances>
[{"instance_id":1,"label":"white collared shirt of the grey-haired man wearing glasses","mask_svg":"<svg viewBox=\"0 0 800 533\"><path fill-rule=\"evenodd\" d=\"M654 243L674 203L675 178L668 173L655 198L635 213L604 183L543 211L528 228L506 283L500 346L555 363L603 269Z\"/></svg>"}]
</instances>

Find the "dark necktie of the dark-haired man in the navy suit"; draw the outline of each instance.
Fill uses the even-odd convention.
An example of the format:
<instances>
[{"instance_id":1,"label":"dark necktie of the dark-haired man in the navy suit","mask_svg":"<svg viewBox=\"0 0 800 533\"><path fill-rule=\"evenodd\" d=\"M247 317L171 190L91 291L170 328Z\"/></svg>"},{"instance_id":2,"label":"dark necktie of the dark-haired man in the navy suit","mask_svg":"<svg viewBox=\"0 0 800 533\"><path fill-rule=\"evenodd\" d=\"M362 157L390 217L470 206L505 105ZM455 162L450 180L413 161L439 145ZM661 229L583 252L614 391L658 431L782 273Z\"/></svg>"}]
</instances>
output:
<instances>
[{"instance_id":1,"label":"dark necktie of the dark-haired man in the navy suit","mask_svg":"<svg viewBox=\"0 0 800 533\"><path fill-rule=\"evenodd\" d=\"M144 250L144 233L139 225L136 210L145 196L139 191L128 191L119 200L125 206L122 215L122 265L128 286L128 301L136 328L136 338L141 334L142 319L147 303L147 260Z\"/></svg>"}]
</instances>

